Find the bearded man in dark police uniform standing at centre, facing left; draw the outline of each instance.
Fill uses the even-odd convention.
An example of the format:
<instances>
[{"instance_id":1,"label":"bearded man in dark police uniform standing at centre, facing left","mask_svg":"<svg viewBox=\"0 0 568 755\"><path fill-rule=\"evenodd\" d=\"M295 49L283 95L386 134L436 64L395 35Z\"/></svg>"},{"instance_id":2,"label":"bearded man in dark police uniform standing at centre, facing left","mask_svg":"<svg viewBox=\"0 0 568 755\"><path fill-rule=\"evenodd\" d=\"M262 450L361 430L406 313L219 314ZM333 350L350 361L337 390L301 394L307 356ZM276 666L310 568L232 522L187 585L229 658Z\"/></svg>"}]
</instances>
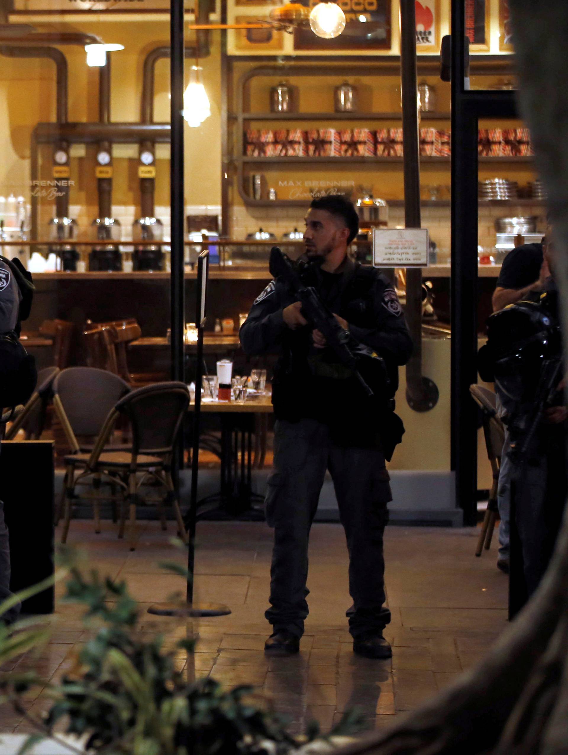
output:
<instances>
[{"instance_id":1,"label":"bearded man in dark police uniform standing at centre, facing left","mask_svg":"<svg viewBox=\"0 0 568 755\"><path fill-rule=\"evenodd\" d=\"M267 652L299 650L308 615L309 531L329 470L347 538L353 649L369 658L391 655L382 636L390 621L383 606L382 538L391 501L385 456L390 458L404 432L389 399L412 341L394 288L377 270L348 257L357 233L352 202L342 196L315 199L305 217L304 257L311 285L348 341L384 360L388 389L370 385L372 398L362 390L353 371L337 363L324 334L309 325L281 277L259 295L240 331L245 353L280 356L272 384L274 470L266 495L266 519L275 529Z\"/></svg>"}]
</instances>

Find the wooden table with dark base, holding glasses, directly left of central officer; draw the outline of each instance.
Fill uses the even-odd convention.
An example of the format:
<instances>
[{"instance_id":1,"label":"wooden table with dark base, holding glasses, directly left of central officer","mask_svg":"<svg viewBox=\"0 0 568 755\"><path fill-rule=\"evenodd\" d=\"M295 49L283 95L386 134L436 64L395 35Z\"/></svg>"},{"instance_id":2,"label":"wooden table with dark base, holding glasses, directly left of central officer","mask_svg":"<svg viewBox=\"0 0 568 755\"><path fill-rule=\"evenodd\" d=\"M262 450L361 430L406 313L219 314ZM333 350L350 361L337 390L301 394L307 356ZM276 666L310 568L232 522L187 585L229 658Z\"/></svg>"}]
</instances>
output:
<instances>
[{"instance_id":1,"label":"wooden table with dark base, holding glasses, directly left of central officer","mask_svg":"<svg viewBox=\"0 0 568 755\"><path fill-rule=\"evenodd\" d=\"M189 411L195 404L189 405ZM247 396L245 402L201 399L201 411L221 417L221 487L220 492L198 501L198 519L264 519L263 496L253 492L253 433L255 435L255 466L264 463L266 449L261 450L260 436L266 430L268 415L272 414L270 391L262 396ZM260 416L259 416L260 415ZM240 459L239 459L240 452ZM257 463L260 461L261 463Z\"/></svg>"}]
</instances>

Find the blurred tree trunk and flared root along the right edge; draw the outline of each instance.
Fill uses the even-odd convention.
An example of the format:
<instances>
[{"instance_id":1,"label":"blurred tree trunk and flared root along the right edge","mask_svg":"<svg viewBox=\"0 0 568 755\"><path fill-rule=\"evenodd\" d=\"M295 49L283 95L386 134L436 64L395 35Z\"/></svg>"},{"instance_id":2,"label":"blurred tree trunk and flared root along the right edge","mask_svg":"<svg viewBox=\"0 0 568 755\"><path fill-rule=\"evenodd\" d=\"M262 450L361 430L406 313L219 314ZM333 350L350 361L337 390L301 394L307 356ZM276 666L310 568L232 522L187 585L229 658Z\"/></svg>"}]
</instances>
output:
<instances>
[{"instance_id":1,"label":"blurred tree trunk and flared root along the right edge","mask_svg":"<svg viewBox=\"0 0 568 755\"><path fill-rule=\"evenodd\" d=\"M568 0L509 0L520 106L548 192L568 333ZM454 324L458 325L458 324ZM487 658L386 732L340 755L568 753L568 520L545 578Z\"/></svg>"}]
</instances>

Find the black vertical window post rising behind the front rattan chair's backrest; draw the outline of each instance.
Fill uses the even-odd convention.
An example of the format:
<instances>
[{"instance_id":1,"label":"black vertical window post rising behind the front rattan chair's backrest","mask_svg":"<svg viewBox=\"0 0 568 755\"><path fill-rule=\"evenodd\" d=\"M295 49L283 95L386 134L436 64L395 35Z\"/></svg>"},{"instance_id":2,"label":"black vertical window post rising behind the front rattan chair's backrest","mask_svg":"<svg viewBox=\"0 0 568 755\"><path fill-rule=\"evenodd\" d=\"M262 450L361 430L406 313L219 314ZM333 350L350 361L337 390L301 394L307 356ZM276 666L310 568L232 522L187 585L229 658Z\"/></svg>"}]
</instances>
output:
<instances>
[{"instance_id":1,"label":"black vertical window post rising behind the front rattan chair's backrest","mask_svg":"<svg viewBox=\"0 0 568 755\"><path fill-rule=\"evenodd\" d=\"M184 156L183 156L183 0L170 0L170 205L171 205L171 376L183 381L183 330L185 301L183 281Z\"/></svg>"}]
</instances>

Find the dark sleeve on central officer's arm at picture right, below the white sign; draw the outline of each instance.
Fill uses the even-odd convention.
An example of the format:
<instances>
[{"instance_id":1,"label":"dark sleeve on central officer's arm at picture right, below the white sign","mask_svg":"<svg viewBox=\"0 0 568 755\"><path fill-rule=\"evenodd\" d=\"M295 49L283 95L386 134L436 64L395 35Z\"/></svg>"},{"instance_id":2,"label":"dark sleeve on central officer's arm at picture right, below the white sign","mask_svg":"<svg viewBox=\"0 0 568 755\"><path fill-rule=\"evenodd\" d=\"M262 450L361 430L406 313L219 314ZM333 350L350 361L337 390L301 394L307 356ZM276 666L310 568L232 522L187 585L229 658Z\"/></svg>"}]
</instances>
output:
<instances>
[{"instance_id":1,"label":"dark sleeve on central officer's arm at picture right, below the white sign","mask_svg":"<svg viewBox=\"0 0 568 755\"><path fill-rule=\"evenodd\" d=\"M405 365L412 354L412 339L395 289L385 285L381 278L374 285L373 316L374 328L358 328L350 324L352 337L379 356L385 356L397 365Z\"/></svg>"}]
</instances>

